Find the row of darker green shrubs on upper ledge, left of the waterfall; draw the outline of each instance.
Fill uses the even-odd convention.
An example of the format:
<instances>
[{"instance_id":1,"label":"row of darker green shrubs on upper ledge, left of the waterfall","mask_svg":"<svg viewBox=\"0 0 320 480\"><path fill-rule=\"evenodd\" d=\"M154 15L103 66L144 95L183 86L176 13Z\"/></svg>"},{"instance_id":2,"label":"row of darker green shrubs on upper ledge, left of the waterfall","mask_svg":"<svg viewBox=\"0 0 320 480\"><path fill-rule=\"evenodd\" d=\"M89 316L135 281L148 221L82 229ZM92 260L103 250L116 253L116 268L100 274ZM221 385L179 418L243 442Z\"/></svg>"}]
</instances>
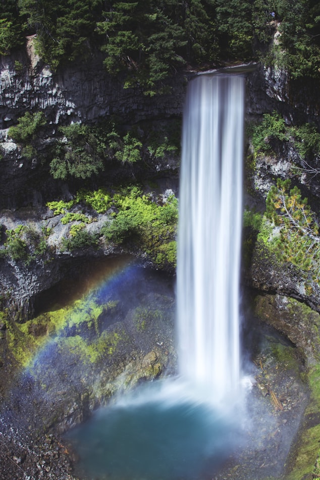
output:
<instances>
[{"instance_id":1,"label":"row of darker green shrubs on upper ledge, left of the waterfall","mask_svg":"<svg viewBox=\"0 0 320 480\"><path fill-rule=\"evenodd\" d=\"M169 132L168 127L154 131L150 125L142 126L145 132L138 127L123 132L113 121L94 127L80 123L60 127L60 138L51 154L50 173L55 179L87 179L98 175L113 159L134 164L142 158L163 158L178 151L178 124Z\"/></svg>"}]
</instances>

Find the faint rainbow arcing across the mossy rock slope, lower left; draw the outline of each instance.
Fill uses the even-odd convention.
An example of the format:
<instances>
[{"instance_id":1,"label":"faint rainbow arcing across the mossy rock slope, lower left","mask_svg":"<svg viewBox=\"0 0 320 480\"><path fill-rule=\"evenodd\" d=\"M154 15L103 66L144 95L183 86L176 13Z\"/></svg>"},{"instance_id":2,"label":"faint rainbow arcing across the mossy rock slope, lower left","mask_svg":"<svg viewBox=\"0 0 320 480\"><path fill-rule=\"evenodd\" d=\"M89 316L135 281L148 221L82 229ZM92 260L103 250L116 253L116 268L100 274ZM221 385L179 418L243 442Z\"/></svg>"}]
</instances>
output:
<instances>
[{"instance_id":1,"label":"faint rainbow arcing across the mossy rock slope, lower left","mask_svg":"<svg viewBox=\"0 0 320 480\"><path fill-rule=\"evenodd\" d=\"M37 376L50 363L54 351L63 349L61 343L68 344L71 353L77 349L85 353L86 347L91 347L87 357L93 360L94 333L95 340L99 338L98 317L116 307L125 289L129 289L130 296L132 286L140 280L141 268L128 255L103 259L92 275L75 279L77 289L72 298L66 300L62 296L51 311L43 311L10 332L13 354L23 370Z\"/></svg>"}]
</instances>

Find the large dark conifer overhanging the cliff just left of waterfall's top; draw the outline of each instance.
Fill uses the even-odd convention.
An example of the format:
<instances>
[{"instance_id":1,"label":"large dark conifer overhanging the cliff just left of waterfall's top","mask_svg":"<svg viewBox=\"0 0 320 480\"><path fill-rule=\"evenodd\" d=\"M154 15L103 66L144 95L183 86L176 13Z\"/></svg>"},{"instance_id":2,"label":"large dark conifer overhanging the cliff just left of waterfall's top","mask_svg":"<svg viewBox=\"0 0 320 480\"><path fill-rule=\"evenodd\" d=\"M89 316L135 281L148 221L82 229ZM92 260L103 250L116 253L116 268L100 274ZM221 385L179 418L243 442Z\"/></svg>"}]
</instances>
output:
<instances>
[{"instance_id":1,"label":"large dark conifer overhanging the cliff just left of waterfall's top","mask_svg":"<svg viewBox=\"0 0 320 480\"><path fill-rule=\"evenodd\" d=\"M126 72L125 87L142 85L145 93L161 90L170 70L183 63L183 28L164 12L161 2L116 2L97 24L105 38L102 51L110 74Z\"/></svg>"}]
</instances>

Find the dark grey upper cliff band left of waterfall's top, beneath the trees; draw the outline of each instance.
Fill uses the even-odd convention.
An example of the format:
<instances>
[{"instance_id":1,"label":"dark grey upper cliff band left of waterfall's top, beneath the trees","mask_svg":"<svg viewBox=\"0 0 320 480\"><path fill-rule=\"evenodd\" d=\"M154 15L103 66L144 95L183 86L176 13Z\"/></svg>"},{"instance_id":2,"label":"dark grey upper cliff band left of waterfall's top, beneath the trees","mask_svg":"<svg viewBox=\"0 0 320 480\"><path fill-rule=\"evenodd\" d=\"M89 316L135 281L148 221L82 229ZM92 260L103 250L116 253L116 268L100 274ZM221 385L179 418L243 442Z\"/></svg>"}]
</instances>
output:
<instances>
[{"instance_id":1,"label":"dark grey upper cliff band left of waterfall's top, beneath the trees","mask_svg":"<svg viewBox=\"0 0 320 480\"><path fill-rule=\"evenodd\" d=\"M159 102L142 90L123 89L119 80L105 73L102 60L99 52L92 52L85 62L52 72L35 55L30 37L26 51L1 57L0 128L30 110L43 111L52 125L96 122L107 115L135 123L181 114L183 75L174 78L173 94Z\"/></svg>"}]
</instances>

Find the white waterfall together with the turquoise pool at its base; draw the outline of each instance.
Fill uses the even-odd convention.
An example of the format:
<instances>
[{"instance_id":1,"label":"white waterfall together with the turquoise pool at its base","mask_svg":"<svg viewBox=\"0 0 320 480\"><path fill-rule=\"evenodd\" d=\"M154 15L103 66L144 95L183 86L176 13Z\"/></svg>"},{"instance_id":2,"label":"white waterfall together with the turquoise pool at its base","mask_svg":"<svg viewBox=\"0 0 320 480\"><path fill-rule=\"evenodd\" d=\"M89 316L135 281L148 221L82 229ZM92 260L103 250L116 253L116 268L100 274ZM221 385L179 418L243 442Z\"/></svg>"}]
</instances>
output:
<instances>
[{"instance_id":1,"label":"white waterfall together with the turquoise pool at its base","mask_svg":"<svg viewBox=\"0 0 320 480\"><path fill-rule=\"evenodd\" d=\"M190 82L179 195L179 378L118 399L72 432L90 475L202 478L240 442L232 409L240 379L243 104L242 75Z\"/></svg>"}]
</instances>

